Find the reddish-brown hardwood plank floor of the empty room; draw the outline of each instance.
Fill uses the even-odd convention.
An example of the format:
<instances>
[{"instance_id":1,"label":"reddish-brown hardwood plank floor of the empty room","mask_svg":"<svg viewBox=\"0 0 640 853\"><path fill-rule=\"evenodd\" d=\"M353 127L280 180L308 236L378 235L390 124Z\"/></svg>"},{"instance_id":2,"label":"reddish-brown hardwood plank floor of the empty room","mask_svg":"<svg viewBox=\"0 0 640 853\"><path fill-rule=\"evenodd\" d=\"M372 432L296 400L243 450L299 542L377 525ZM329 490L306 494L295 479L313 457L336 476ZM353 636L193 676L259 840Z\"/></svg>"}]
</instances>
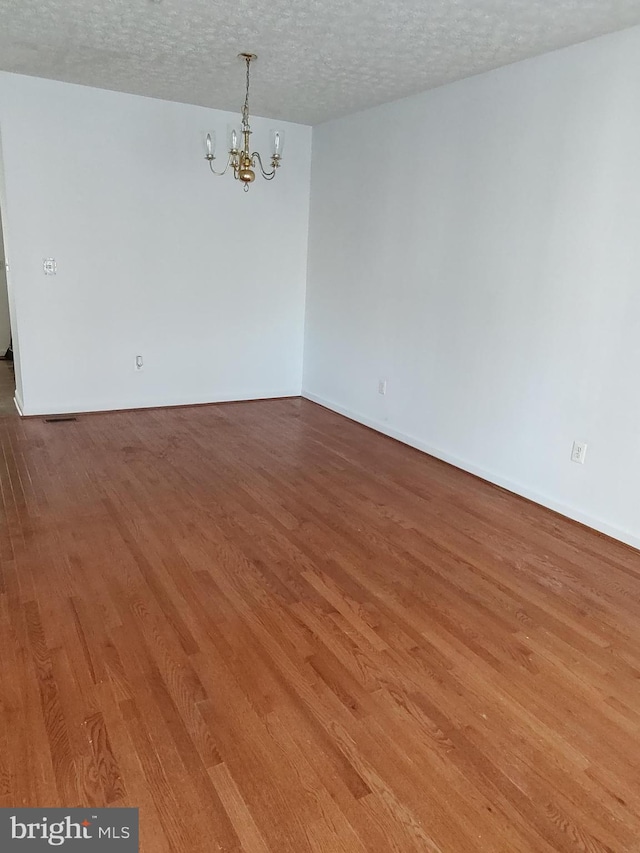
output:
<instances>
[{"instance_id":1,"label":"reddish-brown hardwood plank floor of the empty room","mask_svg":"<svg viewBox=\"0 0 640 853\"><path fill-rule=\"evenodd\" d=\"M640 851L640 554L303 400L0 419L0 805Z\"/></svg>"}]
</instances>

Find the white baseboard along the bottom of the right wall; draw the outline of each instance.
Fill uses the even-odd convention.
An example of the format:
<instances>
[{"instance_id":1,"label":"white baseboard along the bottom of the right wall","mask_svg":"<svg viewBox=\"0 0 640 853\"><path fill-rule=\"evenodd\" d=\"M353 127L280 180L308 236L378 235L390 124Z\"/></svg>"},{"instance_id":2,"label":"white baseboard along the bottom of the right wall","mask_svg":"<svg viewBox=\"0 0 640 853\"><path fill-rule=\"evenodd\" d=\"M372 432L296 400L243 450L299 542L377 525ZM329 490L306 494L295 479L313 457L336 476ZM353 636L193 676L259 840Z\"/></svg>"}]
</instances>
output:
<instances>
[{"instance_id":1,"label":"white baseboard along the bottom of the right wall","mask_svg":"<svg viewBox=\"0 0 640 853\"><path fill-rule=\"evenodd\" d=\"M466 459L460 459L457 456L453 456L450 453L445 453L437 447L433 447L427 442L422 441L419 438L415 438L414 436L407 435L400 430L394 429L382 421L378 421L375 418L369 418L365 415L361 415L358 412L354 412L351 409L347 409L344 406L339 405L338 403L333 402L332 400L326 400L323 397L319 397L317 394L314 394L311 391L302 391L302 396L307 400L311 400L313 403L318 403L318 405L323 406L325 409L330 409L333 412L337 412L339 415L344 415L345 418L349 418L349 420L356 421L357 423L364 424L364 426L368 426L371 429L376 430L376 432L380 432L383 435L388 435L390 438L395 438L397 441L401 441L403 444L408 444L410 447L415 447L416 450L422 450L423 453L428 453L429 456L435 456L436 459L441 459L443 462L448 462L451 465L455 465L456 468L461 468L463 471L468 471L470 474L475 474L477 477L482 478L483 480L487 480L489 483L493 483L496 486L500 486L503 489L506 489L509 492L513 492L516 495L520 495L520 497L527 498L534 503L540 504L540 506L547 507L547 509L552 509L554 512L560 513L560 515L564 515L567 518L572 519L573 521L578 521L580 524L584 524L587 527L591 527L593 530L597 530L599 533L604 533L606 536L611 536L613 539L617 539L619 542L624 542L625 545L630 545L632 548L636 548L640 550L640 537L634 536L628 531L615 527L614 525L608 524L605 521L601 521L599 518L595 518L588 513L582 512L581 510L576 509L575 507L568 506L560 501L555 500L554 498L549 497L548 495L540 494L539 492L534 491L533 489L529 489L527 486L524 486L520 483L515 483L512 480L509 480L505 477L494 474L492 471L487 471L485 468L481 468L478 465L474 465L472 462L469 462Z\"/></svg>"}]
</instances>

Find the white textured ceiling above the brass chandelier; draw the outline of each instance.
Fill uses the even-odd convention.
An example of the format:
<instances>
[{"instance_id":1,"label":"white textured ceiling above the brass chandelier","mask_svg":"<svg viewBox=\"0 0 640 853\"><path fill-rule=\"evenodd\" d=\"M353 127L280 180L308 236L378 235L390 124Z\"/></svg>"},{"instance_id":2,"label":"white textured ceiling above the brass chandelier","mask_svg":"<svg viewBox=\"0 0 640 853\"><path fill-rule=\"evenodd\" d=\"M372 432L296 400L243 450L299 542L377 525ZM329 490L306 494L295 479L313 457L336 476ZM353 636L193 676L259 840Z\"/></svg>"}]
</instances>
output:
<instances>
[{"instance_id":1,"label":"white textured ceiling above the brass chandelier","mask_svg":"<svg viewBox=\"0 0 640 853\"><path fill-rule=\"evenodd\" d=\"M0 0L0 68L316 124L640 23L640 0Z\"/></svg>"}]
</instances>

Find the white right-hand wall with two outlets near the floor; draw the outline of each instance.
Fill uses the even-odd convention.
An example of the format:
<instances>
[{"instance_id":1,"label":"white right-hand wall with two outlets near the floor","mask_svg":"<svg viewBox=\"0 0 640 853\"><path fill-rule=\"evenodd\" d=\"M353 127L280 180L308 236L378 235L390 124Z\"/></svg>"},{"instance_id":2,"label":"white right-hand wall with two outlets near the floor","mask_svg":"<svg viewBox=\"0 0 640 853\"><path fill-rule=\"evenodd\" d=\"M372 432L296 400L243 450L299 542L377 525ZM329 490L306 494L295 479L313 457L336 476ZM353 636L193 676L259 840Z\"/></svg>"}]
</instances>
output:
<instances>
[{"instance_id":1,"label":"white right-hand wall with two outlets near the floor","mask_svg":"<svg viewBox=\"0 0 640 853\"><path fill-rule=\"evenodd\" d=\"M304 393L640 546L639 105L635 28L316 127Z\"/></svg>"}]
</instances>

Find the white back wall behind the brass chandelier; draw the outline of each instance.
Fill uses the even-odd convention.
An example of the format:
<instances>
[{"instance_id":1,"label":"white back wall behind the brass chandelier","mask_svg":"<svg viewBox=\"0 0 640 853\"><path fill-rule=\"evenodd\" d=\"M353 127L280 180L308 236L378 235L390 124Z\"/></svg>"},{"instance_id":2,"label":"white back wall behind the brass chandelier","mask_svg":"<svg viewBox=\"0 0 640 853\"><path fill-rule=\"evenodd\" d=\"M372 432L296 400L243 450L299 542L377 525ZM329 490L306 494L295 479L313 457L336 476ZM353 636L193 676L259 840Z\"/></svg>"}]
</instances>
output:
<instances>
[{"instance_id":1,"label":"white back wall behind the brass chandelier","mask_svg":"<svg viewBox=\"0 0 640 853\"><path fill-rule=\"evenodd\" d=\"M232 119L0 74L26 414L300 392L311 130L286 125L280 174L245 194L204 160Z\"/></svg>"}]
</instances>

